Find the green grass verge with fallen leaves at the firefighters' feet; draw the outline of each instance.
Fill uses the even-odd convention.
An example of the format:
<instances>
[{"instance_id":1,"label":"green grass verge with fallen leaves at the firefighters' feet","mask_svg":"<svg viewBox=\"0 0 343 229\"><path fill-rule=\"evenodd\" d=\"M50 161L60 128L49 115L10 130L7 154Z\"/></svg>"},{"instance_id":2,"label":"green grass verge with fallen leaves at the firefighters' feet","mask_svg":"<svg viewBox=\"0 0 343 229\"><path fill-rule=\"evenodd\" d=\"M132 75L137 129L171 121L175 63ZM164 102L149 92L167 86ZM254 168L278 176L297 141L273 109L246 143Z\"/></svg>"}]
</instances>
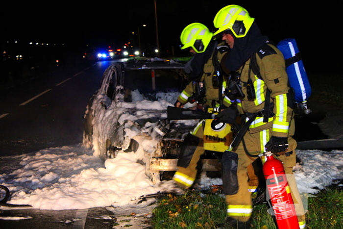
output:
<instances>
[{"instance_id":1,"label":"green grass verge with fallen leaves at the firefighters' feet","mask_svg":"<svg viewBox=\"0 0 343 229\"><path fill-rule=\"evenodd\" d=\"M276 229L267 204L253 210L252 229ZM169 194L153 210L154 229L213 229L225 219L223 195L188 191L181 196ZM306 214L309 229L343 229L343 192L322 190L316 198L308 199Z\"/></svg>"}]
</instances>

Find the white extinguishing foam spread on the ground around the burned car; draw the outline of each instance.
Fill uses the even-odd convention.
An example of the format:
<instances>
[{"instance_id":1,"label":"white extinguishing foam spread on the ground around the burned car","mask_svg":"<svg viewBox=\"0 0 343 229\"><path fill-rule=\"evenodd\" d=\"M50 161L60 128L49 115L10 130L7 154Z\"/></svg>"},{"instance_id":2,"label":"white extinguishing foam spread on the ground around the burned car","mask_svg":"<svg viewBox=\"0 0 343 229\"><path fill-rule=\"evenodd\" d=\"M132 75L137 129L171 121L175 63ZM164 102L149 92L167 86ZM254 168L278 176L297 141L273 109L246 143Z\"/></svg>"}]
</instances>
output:
<instances>
[{"instance_id":1,"label":"white extinguishing foam spread on the ground around the burned car","mask_svg":"<svg viewBox=\"0 0 343 229\"><path fill-rule=\"evenodd\" d=\"M175 95L160 97L171 97L172 99L166 100L175 101ZM138 93L133 96L134 102L117 103L118 109L110 106L107 112L123 114L120 112L124 107L162 110L171 105L166 100L150 102L139 98ZM140 117L148 115L149 113L143 110L139 113ZM135 119L137 117L125 114L119 122L131 120L133 123ZM100 121L101 125L99 131L108 130L108 122ZM131 133L129 128L125 129L125 132L131 135L130 137L136 134L132 128ZM145 142L142 144L145 146L142 147L148 148L153 144L156 143ZM145 165L139 163L144 158L142 147L136 153L118 153L116 158L107 159L105 163L96 153L81 145L0 157L0 184L7 186L12 194L8 203L31 204L39 209L62 210L127 205L137 202L142 195L160 191L160 188L145 175ZM335 178L343 178L342 153L297 151L302 162L297 164L294 170L300 192L315 193L318 190L313 189L314 187L324 188ZM221 179L202 176L198 182L203 186L209 186L221 184Z\"/></svg>"}]
</instances>

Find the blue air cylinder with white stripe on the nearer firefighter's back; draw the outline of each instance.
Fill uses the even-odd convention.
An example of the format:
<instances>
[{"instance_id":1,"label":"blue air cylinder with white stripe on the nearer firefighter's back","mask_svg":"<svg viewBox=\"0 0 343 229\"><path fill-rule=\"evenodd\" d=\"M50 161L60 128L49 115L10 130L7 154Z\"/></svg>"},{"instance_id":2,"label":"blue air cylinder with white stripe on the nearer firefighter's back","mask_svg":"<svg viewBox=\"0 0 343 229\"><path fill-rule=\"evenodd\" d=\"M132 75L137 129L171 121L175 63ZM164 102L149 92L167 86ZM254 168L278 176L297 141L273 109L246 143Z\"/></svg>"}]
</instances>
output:
<instances>
[{"instance_id":1,"label":"blue air cylinder with white stripe on the nearer firefighter's back","mask_svg":"<svg viewBox=\"0 0 343 229\"><path fill-rule=\"evenodd\" d=\"M277 44L277 48L285 58L286 72L290 85L294 89L294 100L297 107L303 110L305 114L311 113L306 103L312 93L311 85L295 39L284 39Z\"/></svg>"}]
</instances>

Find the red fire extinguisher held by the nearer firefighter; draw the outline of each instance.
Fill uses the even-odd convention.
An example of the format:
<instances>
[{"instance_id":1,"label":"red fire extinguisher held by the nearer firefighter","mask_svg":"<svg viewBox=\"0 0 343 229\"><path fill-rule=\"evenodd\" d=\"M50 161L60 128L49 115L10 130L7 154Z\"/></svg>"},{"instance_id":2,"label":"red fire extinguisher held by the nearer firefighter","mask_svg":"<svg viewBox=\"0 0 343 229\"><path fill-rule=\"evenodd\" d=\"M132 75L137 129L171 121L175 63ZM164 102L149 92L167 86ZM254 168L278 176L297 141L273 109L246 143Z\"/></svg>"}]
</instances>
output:
<instances>
[{"instance_id":1,"label":"red fire extinguisher held by the nearer firefighter","mask_svg":"<svg viewBox=\"0 0 343 229\"><path fill-rule=\"evenodd\" d=\"M263 173L278 229L299 229L291 190L282 162L268 153L267 161L263 165Z\"/></svg>"}]
</instances>

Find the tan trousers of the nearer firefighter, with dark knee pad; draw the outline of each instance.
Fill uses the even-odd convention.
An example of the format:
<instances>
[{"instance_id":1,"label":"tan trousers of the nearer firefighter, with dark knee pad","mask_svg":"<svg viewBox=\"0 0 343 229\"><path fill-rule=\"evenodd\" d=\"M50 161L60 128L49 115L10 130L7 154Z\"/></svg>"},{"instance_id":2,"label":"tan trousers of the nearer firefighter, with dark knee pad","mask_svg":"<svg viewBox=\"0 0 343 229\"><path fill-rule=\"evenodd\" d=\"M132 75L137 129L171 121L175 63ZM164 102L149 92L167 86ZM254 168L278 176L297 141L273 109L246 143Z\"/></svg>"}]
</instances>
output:
<instances>
[{"instance_id":1,"label":"tan trousers of the nearer firefighter, with dark knee pad","mask_svg":"<svg viewBox=\"0 0 343 229\"><path fill-rule=\"evenodd\" d=\"M249 220L253 208L248 192L247 170L251 163L258 157L248 156L245 153L245 149L250 154L264 153L264 146L269 141L270 136L271 128L256 133L250 133L248 130L235 149L224 153L223 162L225 162L225 164L223 164L223 185L227 204L227 216L241 222ZM305 228L305 212L293 175L293 166L295 166L296 161L296 142L291 136L288 138L288 144L288 151L292 152L292 154L289 156L275 156L275 158L283 162L288 183L291 188L299 225L300 228ZM262 158L262 161L264 160L265 158Z\"/></svg>"}]
</instances>

